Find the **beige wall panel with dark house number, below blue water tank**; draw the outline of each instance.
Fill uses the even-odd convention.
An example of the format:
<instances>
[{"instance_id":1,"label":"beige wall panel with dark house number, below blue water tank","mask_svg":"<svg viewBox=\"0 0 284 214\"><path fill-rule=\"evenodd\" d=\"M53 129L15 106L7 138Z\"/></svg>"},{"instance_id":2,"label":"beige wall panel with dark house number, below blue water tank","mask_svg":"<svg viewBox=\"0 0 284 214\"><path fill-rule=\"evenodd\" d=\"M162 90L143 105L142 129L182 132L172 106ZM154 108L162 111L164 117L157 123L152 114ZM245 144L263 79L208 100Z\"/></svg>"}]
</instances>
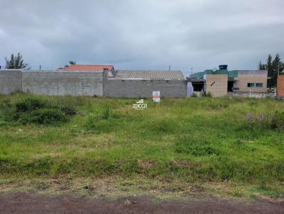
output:
<instances>
[{"instance_id":1,"label":"beige wall panel with dark house number, below blue water tank","mask_svg":"<svg viewBox=\"0 0 284 214\"><path fill-rule=\"evenodd\" d=\"M205 90L210 92L213 97L226 96L228 94L228 75L227 74L207 74Z\"/></svg>"}]
</instances>

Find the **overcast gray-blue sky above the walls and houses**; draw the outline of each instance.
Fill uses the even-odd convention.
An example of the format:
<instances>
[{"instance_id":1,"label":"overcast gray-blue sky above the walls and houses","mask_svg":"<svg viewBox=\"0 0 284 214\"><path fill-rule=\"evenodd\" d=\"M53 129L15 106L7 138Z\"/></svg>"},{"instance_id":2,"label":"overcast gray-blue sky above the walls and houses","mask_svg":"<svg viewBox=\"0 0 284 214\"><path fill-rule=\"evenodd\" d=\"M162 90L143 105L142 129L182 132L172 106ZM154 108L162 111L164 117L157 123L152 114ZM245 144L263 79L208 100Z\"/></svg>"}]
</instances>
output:
<instances>
[{"instance_id":1,"label":"overcast gray-blue sky above the walls and houses","mask_svg":"<svg viewBox=\"0 0 284 214\"><path fill-rule=\"evenodd\" d=\"M32 69L114 64L256 69L284 58L283 0L0 0L0 64L21 52Z\"/></svg>"}]
</instances>

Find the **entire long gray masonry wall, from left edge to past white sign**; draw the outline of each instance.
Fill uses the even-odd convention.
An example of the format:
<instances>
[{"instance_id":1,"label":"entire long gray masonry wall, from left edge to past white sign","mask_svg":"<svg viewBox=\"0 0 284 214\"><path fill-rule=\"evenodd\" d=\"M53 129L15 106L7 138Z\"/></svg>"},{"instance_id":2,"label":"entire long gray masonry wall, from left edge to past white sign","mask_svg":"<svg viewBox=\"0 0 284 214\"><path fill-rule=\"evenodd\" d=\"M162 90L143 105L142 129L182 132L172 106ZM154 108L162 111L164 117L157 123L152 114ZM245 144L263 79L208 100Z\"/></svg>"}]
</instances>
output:
<instances>
[{"instance_id":1,"label":"entire long gray masonry wall, from left edge to past white sign","mask_svg":"<svg viewBox=\"0 0 284 214\"><path fill-rule=\"evenodd\" d=\"M107 72L0 70L0 94L28 91L50 96L109 96L150 98L187 96L186 80L111 79Z\"/></svg>"}]
</instances>

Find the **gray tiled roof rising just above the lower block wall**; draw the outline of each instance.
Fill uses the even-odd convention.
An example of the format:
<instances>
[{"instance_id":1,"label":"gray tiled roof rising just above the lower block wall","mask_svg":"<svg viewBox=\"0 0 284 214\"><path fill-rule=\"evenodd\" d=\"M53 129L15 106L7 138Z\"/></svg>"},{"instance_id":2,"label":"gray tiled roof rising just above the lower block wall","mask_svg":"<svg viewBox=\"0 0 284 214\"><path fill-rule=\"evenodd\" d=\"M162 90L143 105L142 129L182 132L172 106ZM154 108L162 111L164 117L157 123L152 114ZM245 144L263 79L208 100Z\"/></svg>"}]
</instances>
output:
<instances>
[{"instance_id":1,"label":"gray tiled roof rising just above the lower block wall","mask_svg":"<svg viewBox=\"0 0 284 214\"><path fill-rule=\"evenodd\" d=\"M181 71L116 70L114 79L185 79Z\"/></svg>"}]
</instances>

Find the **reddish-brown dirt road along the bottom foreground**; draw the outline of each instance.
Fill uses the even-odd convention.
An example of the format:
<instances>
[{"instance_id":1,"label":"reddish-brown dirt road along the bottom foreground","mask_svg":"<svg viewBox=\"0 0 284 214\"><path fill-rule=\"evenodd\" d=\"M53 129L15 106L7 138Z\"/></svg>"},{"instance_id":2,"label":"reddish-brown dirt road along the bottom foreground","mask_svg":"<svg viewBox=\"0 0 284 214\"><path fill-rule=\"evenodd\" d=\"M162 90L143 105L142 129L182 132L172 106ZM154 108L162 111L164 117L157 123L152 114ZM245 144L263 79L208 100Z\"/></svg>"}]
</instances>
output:
<instances>
[{"instance_id":1,"label":"reddish-brown dirt road along the bottom foreground","mask_svg":"<svg viewBox=\"0 0 284 214\"><path fill-rule=\"evenodd\" d=\"M35 196L31 193L0 194L0 213L284 213L284 201L245 204L216 198L180 203L153 203L148 198L85 200L72 196Z\"/></svg>"}]
</instances>

